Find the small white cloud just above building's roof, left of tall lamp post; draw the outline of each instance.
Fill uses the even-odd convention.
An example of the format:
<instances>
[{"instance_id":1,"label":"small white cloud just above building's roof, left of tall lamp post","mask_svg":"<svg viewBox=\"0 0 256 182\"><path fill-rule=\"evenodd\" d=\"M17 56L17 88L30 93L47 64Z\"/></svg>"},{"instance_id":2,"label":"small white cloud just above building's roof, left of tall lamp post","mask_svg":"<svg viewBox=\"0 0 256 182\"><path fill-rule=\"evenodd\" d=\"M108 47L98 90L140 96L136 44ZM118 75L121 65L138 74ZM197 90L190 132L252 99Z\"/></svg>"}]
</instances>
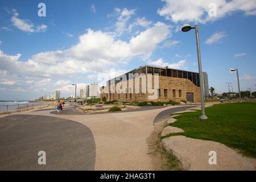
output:
<instances>
[{"instance_id":1,"label":"small white cloud just above building's roof, left of tall lamp post","mask_svg":"<svg viewBox=\"0 0 256 182\"><path fill-rule=\"evenodd\" d=\"M187 68L186 65L186 60L180 60L177 63L167 63L163 58L160 58L156 61L148 61L147 62L149 65L153 65L156 67L168 67L168 68L173 68L173 69L185 69Z\"/></svg>"}]
</instances>

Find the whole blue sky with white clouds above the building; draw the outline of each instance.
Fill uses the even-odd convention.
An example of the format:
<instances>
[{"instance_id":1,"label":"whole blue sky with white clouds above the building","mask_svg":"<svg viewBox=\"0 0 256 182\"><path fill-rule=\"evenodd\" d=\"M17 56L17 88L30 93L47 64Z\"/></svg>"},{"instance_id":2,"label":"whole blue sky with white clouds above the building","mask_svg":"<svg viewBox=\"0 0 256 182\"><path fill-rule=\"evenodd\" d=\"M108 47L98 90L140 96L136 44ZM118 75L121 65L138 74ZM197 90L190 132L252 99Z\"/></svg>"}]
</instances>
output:
<instances>
[{"instance_id":1,"label":"whole blue sky with white clouds above the building","mask_svg":"<svg viewBox=\"0 0 256 182\"><path fill-rule=\"evenodd\" d=\"M44 3L44 6L39 6ZM43 13L45 12L46 16ZM40 16L39 16L40 15ZM256 90L256 0L0 1L0 100L32 100L143 65L203 71L216 93Z\"/></svg>"}]
</instances>

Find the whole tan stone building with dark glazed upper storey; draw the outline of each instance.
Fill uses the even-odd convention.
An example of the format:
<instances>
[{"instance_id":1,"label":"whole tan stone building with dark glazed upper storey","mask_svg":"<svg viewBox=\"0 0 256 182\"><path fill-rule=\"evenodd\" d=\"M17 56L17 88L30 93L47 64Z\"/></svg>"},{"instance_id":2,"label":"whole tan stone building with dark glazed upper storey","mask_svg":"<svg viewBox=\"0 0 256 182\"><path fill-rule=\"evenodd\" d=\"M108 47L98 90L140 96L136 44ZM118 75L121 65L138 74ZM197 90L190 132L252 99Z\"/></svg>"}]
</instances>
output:
<instances>
[{"instance_id":1,"label":"whole tan stone building with dark glazed upper storey","mask_svg":"<svg viewBox=\"0 0 256 182\"><path fill-rule=\"evenodd\" d=\"M199 73L145 65L107 81L101 88L101 100L104 97L122 102L200 102Z\"/></svg>"}]
</instances>

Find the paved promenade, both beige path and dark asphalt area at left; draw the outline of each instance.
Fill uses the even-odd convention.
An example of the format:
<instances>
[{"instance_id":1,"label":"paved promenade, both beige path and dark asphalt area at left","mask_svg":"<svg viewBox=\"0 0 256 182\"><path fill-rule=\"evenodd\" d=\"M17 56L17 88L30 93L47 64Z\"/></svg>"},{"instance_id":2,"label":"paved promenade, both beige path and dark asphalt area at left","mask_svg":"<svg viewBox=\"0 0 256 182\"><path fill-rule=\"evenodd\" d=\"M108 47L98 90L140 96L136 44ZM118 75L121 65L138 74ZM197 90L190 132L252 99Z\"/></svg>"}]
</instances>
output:
<instances>
[{"instance_id":1,"label":"paved promenade, both beige path and dark asphalt area at left","mask_svg":"<svg viewBox=\"0 0 256 182\"><path fill-rule=\"evenodd\" d=\"M1 117L1 123L9 123L3 129L9 128L0 136L1 151L5 151L0 160L5 169L93 169L94 160L96 170L161 169L155 164L154 155L148 154L147 138L154 132L156 115L173 107L180 106L86 115L52 114L54 110L42 109ZM28 121L16 119L11 126L9 117L24 117ZM5 147L9 149L3 150ZM44 168L37 166L39 150L48 151ZM88 164L81 166L84 163Z\"/></svg>"}]
</instances>

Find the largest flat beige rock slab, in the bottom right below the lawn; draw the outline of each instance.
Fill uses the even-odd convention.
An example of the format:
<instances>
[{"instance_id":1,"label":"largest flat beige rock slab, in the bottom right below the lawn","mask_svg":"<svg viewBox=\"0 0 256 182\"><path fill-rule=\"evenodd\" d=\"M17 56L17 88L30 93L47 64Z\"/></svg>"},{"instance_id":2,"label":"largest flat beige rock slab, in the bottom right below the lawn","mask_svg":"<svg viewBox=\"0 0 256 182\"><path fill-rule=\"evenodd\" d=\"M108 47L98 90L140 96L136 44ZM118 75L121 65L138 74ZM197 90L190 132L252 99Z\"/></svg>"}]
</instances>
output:
<instances>
[{"instance_id":1,"label":"largest flat beige rock slab, in the bottom right below the lawn","mask_svg":"<svg viewBox=\"0 0 256 182\"><path fill-rule=\"evenodd\" d=\"M250 170L254 171L256 160L247 158L236 149L222 143L174 136L162 140L163 147L175 155L185 170ZM217 164L209 164L210 151L215 151Z\"/></svg>"}]
</instances>

